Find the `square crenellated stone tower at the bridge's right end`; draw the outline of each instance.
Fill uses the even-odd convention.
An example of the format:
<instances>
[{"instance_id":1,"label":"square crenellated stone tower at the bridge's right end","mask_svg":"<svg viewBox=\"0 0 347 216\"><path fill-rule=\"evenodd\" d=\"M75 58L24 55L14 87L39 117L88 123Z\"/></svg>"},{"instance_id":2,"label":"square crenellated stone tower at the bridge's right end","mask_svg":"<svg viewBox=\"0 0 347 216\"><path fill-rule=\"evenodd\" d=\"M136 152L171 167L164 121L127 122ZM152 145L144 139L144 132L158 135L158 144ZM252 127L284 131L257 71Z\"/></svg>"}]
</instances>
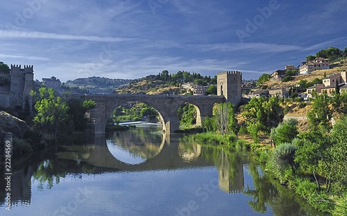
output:
<instances>
[{"instance_id":1,"label":"square crenellated stone tower at the bridge's right end","mask_svg":"<svg viewBox=\"0 0 347 216\"><path fill-rule=\"evenodd\" d=\"M217 96L224 96L226 102L239 105L242 100L242 73L226 71L217 73Z\"/></svg>"}]
</instances>

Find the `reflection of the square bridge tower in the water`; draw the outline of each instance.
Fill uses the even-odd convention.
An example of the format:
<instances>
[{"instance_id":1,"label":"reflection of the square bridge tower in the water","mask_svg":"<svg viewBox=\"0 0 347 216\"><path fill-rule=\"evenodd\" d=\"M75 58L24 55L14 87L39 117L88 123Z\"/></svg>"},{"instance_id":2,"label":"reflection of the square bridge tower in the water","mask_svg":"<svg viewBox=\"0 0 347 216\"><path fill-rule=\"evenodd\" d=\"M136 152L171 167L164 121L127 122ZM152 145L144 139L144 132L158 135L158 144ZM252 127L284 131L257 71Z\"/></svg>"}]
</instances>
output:
<instances>
[{"instance_id":1,"label":"reflection of the square bridge tower in the water","mask_svg":"<svg viewBox=\"0 0 347 216\"><path fill-rule=\"evenodd\" d=\"M230 163L226 152L221 152L217 163L219 188L226 192L241 192L244 190L244 166L242 161Z\"/></svg>"}]
</instances>

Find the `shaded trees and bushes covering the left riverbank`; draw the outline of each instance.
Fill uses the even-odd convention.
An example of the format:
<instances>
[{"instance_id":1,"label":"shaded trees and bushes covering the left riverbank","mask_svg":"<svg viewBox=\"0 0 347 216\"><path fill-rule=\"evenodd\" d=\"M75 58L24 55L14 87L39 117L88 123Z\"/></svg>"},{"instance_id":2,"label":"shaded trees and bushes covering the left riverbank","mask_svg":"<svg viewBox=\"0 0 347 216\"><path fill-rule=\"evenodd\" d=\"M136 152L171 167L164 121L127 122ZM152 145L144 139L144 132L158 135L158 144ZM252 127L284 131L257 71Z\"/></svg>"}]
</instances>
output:
<instances>
[{"instance_id":1,"label":"shaded trees and bushes covering the left riverbank","mask_svg":"<svg viewBox=\"0 0 347 216\"><path fill-rule=\"evenodd\" d=\"M55 95L53 89L45 87L40 87L37 91L32 90L31 96L35 100L34 116L30 115L28 102L26 102L23 111L2 108L14 115L11 116L6 113L7 116L13 118L12 122L17 121L23 124L24 122L18 118L26 120L24 123L26 127L22 127L24 131L12 132L15 155L42 149L58 136L62 137L74 132L85 131L88 120L84 114L88 109L93 109L96 106L93 100L71 99L63 102L60 96Z\"/></svg>"}]
</instances>

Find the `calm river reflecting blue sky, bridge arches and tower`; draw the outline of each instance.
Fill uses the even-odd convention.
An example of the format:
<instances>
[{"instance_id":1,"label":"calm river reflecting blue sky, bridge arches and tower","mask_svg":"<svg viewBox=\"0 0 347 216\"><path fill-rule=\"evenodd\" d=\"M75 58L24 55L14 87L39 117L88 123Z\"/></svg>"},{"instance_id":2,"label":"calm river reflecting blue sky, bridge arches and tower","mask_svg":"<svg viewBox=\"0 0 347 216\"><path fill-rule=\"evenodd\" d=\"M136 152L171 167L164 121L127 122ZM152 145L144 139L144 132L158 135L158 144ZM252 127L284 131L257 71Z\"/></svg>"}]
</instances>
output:
<instances>
[{"instance_id":1,"label":"calm river reflecting blue sky, bridge arches and tower","mask_svg":"<svg viewBox=\"0 0 347 216\"><path fill-rule=\"evenodd\" d=\"M251 153L161 129L137 125L13 159L11 208L1 178L0 215L321 215Z\"/></svg>"}]
</instances>

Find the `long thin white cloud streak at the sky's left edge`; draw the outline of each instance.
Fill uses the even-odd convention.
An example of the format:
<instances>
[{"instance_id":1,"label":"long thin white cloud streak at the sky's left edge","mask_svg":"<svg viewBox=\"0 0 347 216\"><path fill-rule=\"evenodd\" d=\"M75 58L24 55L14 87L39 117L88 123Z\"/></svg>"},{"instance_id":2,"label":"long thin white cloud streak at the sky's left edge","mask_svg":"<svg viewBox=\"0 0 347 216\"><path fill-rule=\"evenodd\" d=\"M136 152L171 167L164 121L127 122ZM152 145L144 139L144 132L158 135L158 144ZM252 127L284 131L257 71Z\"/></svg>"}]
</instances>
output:
<instances>
[{"instance_id":1,"label":"long thin white cloud streak at the sky's left edge","mask_svg":"<svg viewBox=\"0 0 347 216\"><path fill-rule=\"evenodd\" d=\"M129 42L132 38L123 37L99 37L85 35L67 35L56 33L43 33L37 31L0 30L0 38L24 38L24 39L57 39L57 40L83 40L90 42Z\"/></svg>"}]
</instances>

